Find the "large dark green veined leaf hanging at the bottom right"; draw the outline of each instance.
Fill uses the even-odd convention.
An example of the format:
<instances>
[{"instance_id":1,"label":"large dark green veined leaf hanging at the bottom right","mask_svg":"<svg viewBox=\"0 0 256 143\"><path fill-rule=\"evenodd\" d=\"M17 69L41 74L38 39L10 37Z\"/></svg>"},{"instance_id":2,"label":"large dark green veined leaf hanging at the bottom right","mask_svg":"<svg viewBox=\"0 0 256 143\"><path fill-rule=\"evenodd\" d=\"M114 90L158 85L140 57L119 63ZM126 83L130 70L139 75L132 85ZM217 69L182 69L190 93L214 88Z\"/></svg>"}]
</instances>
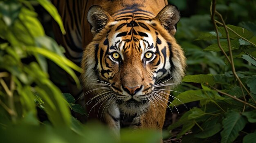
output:
<instances>
[{"instance_id":1,"label":"large dark green veined leaf hanging at the bottom right","mask_svg":"<svg viewBox=\"0 0 256 143\"><path fill-rule=\"evenodd\" d=\"M239 112L233 110L227 112L226 118L222 121L221 143L232 143L246 123L246 119Z\"/></svg>"}]
</instances>

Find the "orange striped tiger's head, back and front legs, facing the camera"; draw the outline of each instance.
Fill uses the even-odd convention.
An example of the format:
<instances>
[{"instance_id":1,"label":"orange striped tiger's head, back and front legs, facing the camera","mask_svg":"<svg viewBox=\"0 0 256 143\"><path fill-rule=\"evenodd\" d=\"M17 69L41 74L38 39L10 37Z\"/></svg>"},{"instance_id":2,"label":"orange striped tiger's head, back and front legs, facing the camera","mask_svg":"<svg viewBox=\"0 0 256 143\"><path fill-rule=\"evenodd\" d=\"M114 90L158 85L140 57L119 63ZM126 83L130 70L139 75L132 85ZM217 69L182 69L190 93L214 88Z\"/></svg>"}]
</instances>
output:
<instances>
[{"instance_id":1,"label":"orange striped tiger's head, back and front legs, facing the camera","mask_svg":"<svg viewBox=\"0 0 256 143\"><path fill-rule=\"evenodd\" d=\"M83 52L81 79L89 118L115 132L120 114L135 129L161 132L170 90L186 58L174 34L180 12L163 1L104 1L87 13L93 40Z\"/></svg>"}]
</instances>

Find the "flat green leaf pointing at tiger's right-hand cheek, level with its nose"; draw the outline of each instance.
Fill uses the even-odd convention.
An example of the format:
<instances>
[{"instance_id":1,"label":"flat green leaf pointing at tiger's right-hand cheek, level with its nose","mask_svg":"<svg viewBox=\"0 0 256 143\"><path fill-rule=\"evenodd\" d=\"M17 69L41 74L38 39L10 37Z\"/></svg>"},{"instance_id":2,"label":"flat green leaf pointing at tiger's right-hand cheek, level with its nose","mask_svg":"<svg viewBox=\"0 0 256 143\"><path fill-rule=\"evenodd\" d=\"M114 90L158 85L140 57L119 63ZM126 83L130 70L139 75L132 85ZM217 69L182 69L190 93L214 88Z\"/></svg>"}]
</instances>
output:
<instances>
[{"instance_id":1,"label":"flat green leaf pointing at tiger's right-hand cheek, level with its nose","mask_svg":"<svg viewBox=\"0 0 256 143\"><path fill-rule=\"evenodd\" d=\"M214 85L215 81L213 78L213 75L208 74L208 75L186 75L183 79L183 82L195 82L199 84L209 84L209 85Z\"/></svg>"}]
</instances>

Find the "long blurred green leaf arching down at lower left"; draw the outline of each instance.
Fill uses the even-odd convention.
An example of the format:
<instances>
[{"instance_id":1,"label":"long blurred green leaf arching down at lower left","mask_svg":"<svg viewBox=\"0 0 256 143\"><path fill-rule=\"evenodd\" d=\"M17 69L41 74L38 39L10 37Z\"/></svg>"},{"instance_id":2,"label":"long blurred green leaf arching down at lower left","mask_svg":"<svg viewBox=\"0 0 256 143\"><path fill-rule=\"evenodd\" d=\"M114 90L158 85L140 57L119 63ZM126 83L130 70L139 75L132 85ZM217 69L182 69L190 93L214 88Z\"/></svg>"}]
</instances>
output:
<instances>
[{"instance_id":1,"label":"long blurred green leaf arching down at lower left","mask_svg":"<svg viewBox=\"0 0 256 143\"><path fill-rule=\"evenodd\" d=\"M38 69L38 64L31 62L28 67L25 67L25 72L34 78L37 85L35 87L36 91L44 102L42 106L48 114L49 120L54 126L69 126L71 120L67 101L64 99L61 91L48 79L47 74Z\"/></svg>"}]
</instances>

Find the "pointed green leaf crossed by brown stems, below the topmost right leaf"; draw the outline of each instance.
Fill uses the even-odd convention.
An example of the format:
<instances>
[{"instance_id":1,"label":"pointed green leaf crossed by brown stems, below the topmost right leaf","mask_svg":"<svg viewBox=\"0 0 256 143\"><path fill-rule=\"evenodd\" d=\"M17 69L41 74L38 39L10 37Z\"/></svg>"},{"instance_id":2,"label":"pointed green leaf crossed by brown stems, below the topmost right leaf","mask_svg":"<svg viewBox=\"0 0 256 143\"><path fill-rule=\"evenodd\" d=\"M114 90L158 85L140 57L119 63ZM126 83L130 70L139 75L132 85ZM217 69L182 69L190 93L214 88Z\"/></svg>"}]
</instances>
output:
<instances>
[{"instance_id":1,"label":"pointed green leaf crossed by brown stems, below the topmost right leaf","mask_svg":"<svg viewBox=\"0 0 256 143\"><path fill-rule=\"evenodd\" d=\"M230 44L231 44L231 49L232 49L232 50L234 50L234 49L239 49L240 44L239 44L239 42L238 42L237 40L231 40L231 43L230 43ZM223 48L223 50L224 50L225 52L229 51L227 41L220 42L220 45L221 45L221 47ZM218 44L212 44L212 45L206 47L206 48L204 49L204 51L219 52L219 51L221 51L221 50L220 50Z\"/></svg>"}]
</instances>

